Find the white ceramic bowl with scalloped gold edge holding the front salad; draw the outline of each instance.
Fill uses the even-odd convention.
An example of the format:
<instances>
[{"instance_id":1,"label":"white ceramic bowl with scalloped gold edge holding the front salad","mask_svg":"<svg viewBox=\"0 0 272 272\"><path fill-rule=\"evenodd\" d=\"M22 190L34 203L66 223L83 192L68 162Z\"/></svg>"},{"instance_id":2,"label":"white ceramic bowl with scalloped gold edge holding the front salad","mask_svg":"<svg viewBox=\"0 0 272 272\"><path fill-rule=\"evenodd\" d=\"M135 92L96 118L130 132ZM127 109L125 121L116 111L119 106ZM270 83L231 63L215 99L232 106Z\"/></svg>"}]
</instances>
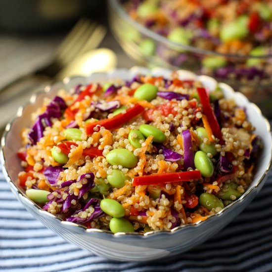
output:
<instances>
[{"instance_id":1,"label":"white ceramic bowl with scalloped gold edge holding the front salad","mask_svg":"<svg viewBox=\"0 0 272 272\"><path fill-rule=\"evenodd\" d=\"M130 70L117 69L110 73L95 73L88 78L75 77L64 79L51 87L45 88L45 92L31 98L31 103L24 108L20 107L17 116L6 126L1 139L0 160L3 173L11 190L17 199L23 203L25 208L40 220L48 228L67 241L78 245L92 253L114 260L121 261L148 261L174 256L204 242L209 237L234 219L260 191L272 163L272 136L268 121L262 116L259 108L250 103L247 98L238 92L234 92L229 86L220 83L227 98L234 98L236 103L247 108L248 119L256 127L256 133L261 136L264 149L258 158L256 173L248 190L236 201L228 205L216 215L204 222L176 227L172 230L151 231L145 234L113 234L110 231L100 229L87 229L75 223L64 222L58 217L42 210L38 205L29 200L25 193L17 186L17 175L21 171L20 161L16 152L21 147L20 132L23 127L30 127L30 114L42 105L45 97L53 98L60 88L69 90L76 84L87 84L89 82L107 82L114 79L130 80L137 73L152 74L154 76L164 76L168 78L170 70L154 68L148 70L142 67L134 67ZM191 72L178 71L181 79L196 78L200 80L206 88L213 90L216 81L207 76L196 76Z\"/></svg>"}]
</instances>

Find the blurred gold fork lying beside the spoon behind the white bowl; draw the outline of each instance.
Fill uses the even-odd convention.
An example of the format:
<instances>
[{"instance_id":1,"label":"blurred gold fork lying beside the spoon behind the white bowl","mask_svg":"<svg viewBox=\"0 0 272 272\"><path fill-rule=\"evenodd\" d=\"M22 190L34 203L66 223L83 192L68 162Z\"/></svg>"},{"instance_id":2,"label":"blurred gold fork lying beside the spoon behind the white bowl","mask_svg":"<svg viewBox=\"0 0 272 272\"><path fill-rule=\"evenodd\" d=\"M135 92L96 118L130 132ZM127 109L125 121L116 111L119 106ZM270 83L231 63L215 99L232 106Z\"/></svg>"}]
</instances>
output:
<instances>
[{"instance_id":1,"label":"blurred gold fork lying beside the spoon behind the white bowl","mask_svg":"<svg viewBox=\"0 0 272 272\"><path fill-rule=\"evenodd\" d=\"M89 19L82 18L68 33L56 50L52 61L20 77L0 90L0 128L2 128L17 108L27 102L31 94L43 89L74 58L100 45L106 29Z\"/></svg>"}]
</instances>

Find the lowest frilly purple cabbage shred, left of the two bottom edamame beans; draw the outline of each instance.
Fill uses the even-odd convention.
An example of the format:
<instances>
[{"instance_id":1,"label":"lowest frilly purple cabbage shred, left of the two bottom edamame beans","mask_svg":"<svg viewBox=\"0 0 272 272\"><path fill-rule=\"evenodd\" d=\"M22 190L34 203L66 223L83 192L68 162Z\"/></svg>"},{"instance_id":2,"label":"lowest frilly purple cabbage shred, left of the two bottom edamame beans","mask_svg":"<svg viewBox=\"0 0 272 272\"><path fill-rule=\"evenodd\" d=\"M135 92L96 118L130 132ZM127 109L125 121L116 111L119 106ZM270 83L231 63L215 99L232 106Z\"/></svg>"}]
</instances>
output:
<instances>
[{"instance_id":1,"label":"lowest frilly purple cabbage shred, left of the two bottom edamame beans","mask_svg":"<svg viewBox=\"0 0 272 272\"><path fill-rule=\"evenodd\" d=\"M88 218L81 218L81 217L75 216L79 212L87 210L90 206L93 206L93 208L94 208L94 212L91 214L90 217L88 217ZM71 217L66 218L66 221L74 222L74 223L78 223L78 224L83 224L83 223L87 223L87 222L89 222L91 220L97 219L100 216L102 216L103 214L104 213L102 212L102 210L100 208L99 199L97 199L97 198L91 198L88 201L88 203L84 206L84 208L82 210L76 211L74 213L74 215L72 215Z\"/></svg>"}]
</instances>

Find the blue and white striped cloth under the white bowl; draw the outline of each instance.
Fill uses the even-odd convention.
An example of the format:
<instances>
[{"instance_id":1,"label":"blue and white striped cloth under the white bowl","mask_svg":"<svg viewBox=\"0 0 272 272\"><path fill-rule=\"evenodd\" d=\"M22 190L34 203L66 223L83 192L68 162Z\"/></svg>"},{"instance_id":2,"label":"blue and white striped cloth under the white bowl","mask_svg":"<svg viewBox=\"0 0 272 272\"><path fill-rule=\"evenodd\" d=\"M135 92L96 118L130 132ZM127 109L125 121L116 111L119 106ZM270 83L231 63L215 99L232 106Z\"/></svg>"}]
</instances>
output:
<instances>
[{"instance_id":1,"label":"blue and white striped cloth under the white bowl","mask_svg":"<svg viewBox=\"0 0 272 272\"><path fill-rule=\"evenodd\" d=\"M0 271L272 271L272 173L247 209L203 245L173 260L121 263L79 249L44 227L15 199L0 172Z\"/></svg>"}]
</instances>

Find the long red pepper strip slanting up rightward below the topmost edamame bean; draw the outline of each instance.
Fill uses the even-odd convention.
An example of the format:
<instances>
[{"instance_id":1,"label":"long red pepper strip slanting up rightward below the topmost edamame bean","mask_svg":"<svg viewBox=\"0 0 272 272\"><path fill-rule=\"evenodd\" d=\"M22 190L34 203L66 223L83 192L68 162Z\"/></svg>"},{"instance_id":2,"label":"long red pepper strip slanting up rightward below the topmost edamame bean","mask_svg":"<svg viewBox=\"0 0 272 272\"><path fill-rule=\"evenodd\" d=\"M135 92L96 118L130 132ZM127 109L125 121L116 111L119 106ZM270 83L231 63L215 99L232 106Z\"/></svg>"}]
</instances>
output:
<instances>
[{"instance_id":1,"label":"long red pepper strip slanting up rightward below the topmost edamame bean","mask_svg":"<svg viewBox=\"0 0 272 272\"><path fill-rule=\"evenodd\" d=\"M87 124L86 133L87 135L91 135L93 133L93 129L97 125L104 127L107 130L113 130L115 128L119 128L123 124L127 123L128 121L130 121L131 119L133 119L134 117L142 113L143 111L144 111L144 108L141 105L136 104L134 107L127 109L125 113L119 113L113 118L104 119L94 123Z\"/></svg>"}]
</instances>

